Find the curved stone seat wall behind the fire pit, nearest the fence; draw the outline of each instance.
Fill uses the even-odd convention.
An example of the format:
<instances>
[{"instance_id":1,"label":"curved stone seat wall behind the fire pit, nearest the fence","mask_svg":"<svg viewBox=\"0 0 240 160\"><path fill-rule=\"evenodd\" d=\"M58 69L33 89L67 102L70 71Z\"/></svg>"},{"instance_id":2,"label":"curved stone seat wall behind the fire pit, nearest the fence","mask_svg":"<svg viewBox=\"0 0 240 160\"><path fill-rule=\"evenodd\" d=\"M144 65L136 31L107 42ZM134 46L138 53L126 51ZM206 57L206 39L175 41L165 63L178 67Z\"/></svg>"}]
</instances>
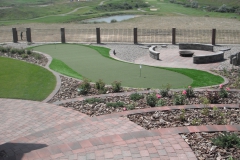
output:
<instances>
[{"instance_id":1,"label":"curved stone seat wall behind the fire pit, nearest the fence","mask_svg":"<svg viewBox=\"0 0 240 160\"><path fill-rule=\"evenodd\" d=\"M179 49L195 49L213 52L213 45L200 43L179 43Z\"/></svg>"}]
</instances>

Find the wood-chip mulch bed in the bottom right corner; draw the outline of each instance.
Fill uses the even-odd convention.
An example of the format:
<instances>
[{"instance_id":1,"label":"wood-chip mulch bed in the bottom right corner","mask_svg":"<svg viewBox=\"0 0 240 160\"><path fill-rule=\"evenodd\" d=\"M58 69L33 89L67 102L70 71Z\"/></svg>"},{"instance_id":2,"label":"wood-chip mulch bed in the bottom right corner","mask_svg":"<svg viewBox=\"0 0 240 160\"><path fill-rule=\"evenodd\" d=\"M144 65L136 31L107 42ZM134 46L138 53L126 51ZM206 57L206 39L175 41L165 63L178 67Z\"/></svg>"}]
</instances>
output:
<instances>
[{"instance_id":1,"label":"wood-chip mulch bed in the bottom right corner","mask_svg":"<svg viewBox=\"0 0 240 160\"><path fill-rule=\"evenodd\" d=\"M196 157L199 160L238 160L240 157L240 149L237 147L224 148L216 146L212 143L212 139L223 132L214 133L188 133L181 134L182 138L189 144ZM234 132L240 137L240 132ZM232 158L232 159L231 159Z\"/></svg>"}]
</instances>

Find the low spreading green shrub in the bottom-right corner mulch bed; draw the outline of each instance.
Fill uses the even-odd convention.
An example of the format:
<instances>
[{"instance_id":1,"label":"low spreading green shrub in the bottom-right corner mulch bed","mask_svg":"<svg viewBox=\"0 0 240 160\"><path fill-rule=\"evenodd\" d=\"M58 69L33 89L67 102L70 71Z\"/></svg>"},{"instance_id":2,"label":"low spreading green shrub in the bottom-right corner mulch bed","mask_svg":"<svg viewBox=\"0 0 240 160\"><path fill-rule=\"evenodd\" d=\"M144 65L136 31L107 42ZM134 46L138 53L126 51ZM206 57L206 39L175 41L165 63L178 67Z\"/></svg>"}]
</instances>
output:
<instances>
[{"instance_id":1,"label":"low spreading green shrub in the bottom-right corner mulch bed","mask_svg":"<svg viewBox=\"0 0 240 160\"><path fill-rule=\"evenodd\" d=\"M212 139L212 143L223 148L240 148L240 138L235 133L223 133Z\"/></svg>"}]
</instances>

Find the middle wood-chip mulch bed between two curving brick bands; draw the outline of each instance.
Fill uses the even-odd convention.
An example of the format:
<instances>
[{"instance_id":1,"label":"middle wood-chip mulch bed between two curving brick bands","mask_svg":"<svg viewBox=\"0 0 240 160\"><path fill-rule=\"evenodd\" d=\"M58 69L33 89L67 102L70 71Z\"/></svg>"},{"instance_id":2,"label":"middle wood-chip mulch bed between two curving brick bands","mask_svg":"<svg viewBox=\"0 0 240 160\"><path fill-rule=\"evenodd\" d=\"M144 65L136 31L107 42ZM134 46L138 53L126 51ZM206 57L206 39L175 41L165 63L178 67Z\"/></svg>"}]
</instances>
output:
<instances>
[{"instance_id":1,"label":"middle wood-chip mulch bed between two curving brick bands","mask_svg":"<svg viewBox=\"0 0 240 160\"><path fill-rule=\"evenodd\" d=\"M198 125L240 124L239 109L209 108L183 109L137 113L128 115L130 121L147 130Z\"/></svg>"}]
</instances>

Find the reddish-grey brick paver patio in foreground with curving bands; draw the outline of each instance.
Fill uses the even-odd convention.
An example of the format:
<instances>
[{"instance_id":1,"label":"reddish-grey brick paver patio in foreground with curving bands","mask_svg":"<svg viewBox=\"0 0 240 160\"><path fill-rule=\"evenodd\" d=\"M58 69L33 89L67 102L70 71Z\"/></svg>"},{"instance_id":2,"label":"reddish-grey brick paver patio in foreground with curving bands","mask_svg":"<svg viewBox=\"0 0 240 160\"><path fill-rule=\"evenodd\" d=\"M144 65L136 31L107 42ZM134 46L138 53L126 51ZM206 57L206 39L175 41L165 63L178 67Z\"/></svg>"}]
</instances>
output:
<instances>
[{"instance_id":1,"label":"reddish-grey brick paver patio in foreground with curving bands","mask_svg":"<svg viewBox=\"0 0 240 160\"><path fill-rule=\"evenodd\" d=\"M7 160L194 160L194 153L178 133L239 131L240 126L190 126L148 131L129 121L126 115L201 107L157 107L88 117L53 104L0 99L0 120L4 122L0 125L0 151L7 152L9 157L2 158Z\"/></svg>"}]
</instances>

